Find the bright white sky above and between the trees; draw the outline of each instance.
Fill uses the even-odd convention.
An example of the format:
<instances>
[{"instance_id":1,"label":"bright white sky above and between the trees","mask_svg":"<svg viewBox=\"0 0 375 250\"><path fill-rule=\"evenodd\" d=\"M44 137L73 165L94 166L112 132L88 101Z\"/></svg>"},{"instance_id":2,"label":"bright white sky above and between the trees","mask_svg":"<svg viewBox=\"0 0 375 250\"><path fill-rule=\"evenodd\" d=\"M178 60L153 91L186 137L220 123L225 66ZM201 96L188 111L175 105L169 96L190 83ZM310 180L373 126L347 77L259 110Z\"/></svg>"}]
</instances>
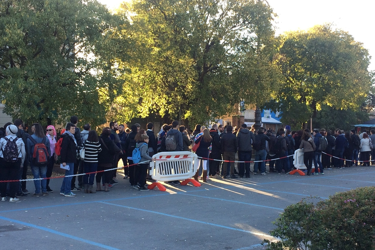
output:
<instances>
[{"instance_id":1,"label":"bright white sky above and between the trees","mask_svg":"<svg viewBox=\"0 0 375 250\"><path fill-rule=\"evenodd\" d=\"M98 0L110 9L123 0ZM208 0L209 1L209 0ZM306 30L317 24L333 23L362 42L373 59L369 70L375 70L375 42L373 12L375 0L267 0L276 18L276 33Z\"/></svg>"}]
</instances>

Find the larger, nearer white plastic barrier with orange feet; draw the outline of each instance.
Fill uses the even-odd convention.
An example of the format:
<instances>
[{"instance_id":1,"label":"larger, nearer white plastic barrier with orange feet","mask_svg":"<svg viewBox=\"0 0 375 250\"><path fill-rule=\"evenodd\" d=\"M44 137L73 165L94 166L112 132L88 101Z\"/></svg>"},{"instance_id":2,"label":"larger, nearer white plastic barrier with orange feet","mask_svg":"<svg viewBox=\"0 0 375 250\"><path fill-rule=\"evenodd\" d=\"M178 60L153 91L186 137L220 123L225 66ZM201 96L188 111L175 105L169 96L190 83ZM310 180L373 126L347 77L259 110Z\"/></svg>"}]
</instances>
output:
<instances>
[{"instance_id":1,"label":"larger, nearer white plastic barrier with orange feet","mask_svg":"<svg viewBox=\"0 0 375 250\"><path fill-rule=\"evenodd\" d=\"M149 189L155 186L159 187L160 190L165 191L159 181L177 181L184 180L181 185L186 185L188 182L196 187L200 187L199 182L191 179L196 172L196 164L198 156L189 151L179 152L160 152L153 155L156 161L150 162L151 178L156 180L151 185L148 185Z\"/></svg>"}]
</instances>

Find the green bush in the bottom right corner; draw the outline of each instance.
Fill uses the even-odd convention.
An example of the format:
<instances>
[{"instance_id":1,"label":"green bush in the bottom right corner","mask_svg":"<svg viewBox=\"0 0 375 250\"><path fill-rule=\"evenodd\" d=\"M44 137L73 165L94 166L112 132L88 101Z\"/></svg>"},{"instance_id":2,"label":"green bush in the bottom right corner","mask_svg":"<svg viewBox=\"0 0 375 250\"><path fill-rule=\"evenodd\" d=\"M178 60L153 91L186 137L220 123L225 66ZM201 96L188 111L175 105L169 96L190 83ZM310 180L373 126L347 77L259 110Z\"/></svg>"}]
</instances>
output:
<instances>
[{"instance_id":1,"label":"green bush in the bottom right corner","mask_svg":"<svg viewBox=\"0 0 375 250\"><path fill-rule=\"evenodd\" d=\"M316 198L316 197L311 197ZM336 193L314 204L303 199L285 208L267 250L375 249L375 187Z\"/></svg>"}]
</instances>

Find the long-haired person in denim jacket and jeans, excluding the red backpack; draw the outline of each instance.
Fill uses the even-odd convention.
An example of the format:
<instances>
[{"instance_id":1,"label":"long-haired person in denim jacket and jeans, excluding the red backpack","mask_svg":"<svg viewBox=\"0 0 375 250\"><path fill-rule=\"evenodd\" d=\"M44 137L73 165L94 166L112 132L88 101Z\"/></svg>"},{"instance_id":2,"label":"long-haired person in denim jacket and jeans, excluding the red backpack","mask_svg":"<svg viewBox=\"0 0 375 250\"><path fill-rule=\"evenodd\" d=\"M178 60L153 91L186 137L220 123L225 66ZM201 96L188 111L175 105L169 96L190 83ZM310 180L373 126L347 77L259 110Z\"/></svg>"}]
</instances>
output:
<instances>
[{"instance_id":1,"label":"long-haired person in denim jacket and jeans, excluding the red backpack","mask_svg":"<svg viewBox=\"0 0 375 250\"><path fill-rule=\"evenodd\" d=\"M47 166L48 166L48 160L51 155L51 147L49 145L49 140L44 135L42 125L39 123L33 123L31 125L31 131L34 132L31 136L27 138L27 152L28 152L28 158L29 163L31 167L31 172L33 172L33 176L35 179L37 178L46 178L47 177ZM37 164L33 161L33 152L34 147L36 144L42 143L45 145L48 155L45 155L47 158L47 162L44 164ZM47 153L46 152L46 153ZM47 196L47 180L35 180L35 193L33 193L31 196L33 197L39 197L40 196L40 190L42 190L42 196Z\"/></svg>"}]
</instances>

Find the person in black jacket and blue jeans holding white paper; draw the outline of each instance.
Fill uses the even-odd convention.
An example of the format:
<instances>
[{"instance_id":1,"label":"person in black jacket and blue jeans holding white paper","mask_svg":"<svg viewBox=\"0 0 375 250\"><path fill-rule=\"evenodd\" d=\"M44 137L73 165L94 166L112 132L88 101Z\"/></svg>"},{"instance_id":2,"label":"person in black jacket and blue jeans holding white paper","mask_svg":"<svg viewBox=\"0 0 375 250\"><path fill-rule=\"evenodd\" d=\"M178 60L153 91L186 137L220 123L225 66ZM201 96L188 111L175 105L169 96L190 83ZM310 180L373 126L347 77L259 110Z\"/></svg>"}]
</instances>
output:
<instances>
[{"instance_id":1,"label":"person in black jacket and blue jeans holding white paper","mask_svg":"<svg viewBox=\"0 0 375 250\"><path fill-rule=\"evenodd\" d=\"M66 197L74 197L72 192L72 176L74 174L74 165L77 163L77 141L74 137L76 126L72 122L66 124L65 132L62 134L60 162L63 167L69 166L65 170L65 177L60 188L60 194ZM81 190L80 190L81 191Z\"/></svg>"}]
</instances>

